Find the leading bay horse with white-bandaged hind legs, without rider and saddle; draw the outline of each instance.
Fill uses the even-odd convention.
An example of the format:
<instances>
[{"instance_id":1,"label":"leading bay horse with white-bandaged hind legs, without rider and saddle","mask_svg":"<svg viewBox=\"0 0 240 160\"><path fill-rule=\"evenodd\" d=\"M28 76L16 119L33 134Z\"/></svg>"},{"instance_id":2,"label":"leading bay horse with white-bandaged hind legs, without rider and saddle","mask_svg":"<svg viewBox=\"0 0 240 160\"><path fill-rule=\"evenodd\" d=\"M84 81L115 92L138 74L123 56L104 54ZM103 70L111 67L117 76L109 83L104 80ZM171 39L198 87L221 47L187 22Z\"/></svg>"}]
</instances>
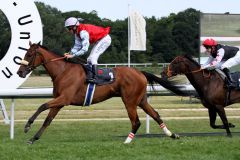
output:
<instances>
[{"instance_id":1,"label":"leading bay horse with white-bandaged hind legs, without rider and saddle","mask_svg":"<svg viewBox=\"0 0 240 160\"><path fill-rule=\"evenodd\" d=\"M43 65L52 79L54 97L54 99L49 102L42 104L25 125L24 132L27 133L38 115L49 109L43 125L28 141L28 143L33 144L34 141L40 138L61 108L67 105L83 105L87 83L85 82L86 73L83 64L66 62L63 59L64 57L49 51L39 43L29 43L29 45L30 48L27 50L17 74L20 77L26 77L26 75L36 67ZM150 115L167 136L179 138L177 134L167 129L158 112L147 102L147 82L149 81L150 84L158 83L176 94L181 95L185 93L171 82L148 72L141 72L129 67L116 67L113 68L113 70L115 72L115 81L111 84L96 86L92 104L107 100L111 97L122 98L132 125L132 130L124 143L130 143L140 127L137 106Z\"/></svg>"}]
</instances>

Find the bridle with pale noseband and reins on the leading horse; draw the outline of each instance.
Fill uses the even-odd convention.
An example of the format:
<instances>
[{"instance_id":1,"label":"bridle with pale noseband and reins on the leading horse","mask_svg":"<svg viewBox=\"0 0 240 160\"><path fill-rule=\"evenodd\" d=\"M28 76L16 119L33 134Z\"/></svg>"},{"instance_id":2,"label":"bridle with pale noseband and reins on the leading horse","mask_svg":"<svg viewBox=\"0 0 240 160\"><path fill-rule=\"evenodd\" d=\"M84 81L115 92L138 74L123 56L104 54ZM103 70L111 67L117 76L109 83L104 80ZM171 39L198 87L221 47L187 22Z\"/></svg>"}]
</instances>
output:
<instances>
[{"instance_id":1,"label":"bridle with pale noseband and reins on the leading horse","mask_svg":"<svg viewBox=\"0 0 240 160\"><path fill-rule=\"evenodd\" d=\"M37 56L43 57L43 55L42 55L42 53L38 52L38 48L35 48L34 51L31 52L30 54L33 55L33 58L31 58L30 62L28 62L28 61L26 61L24 59L21 61L21 65L25 65L26 66L26 70L28 70L28 71L33 71L34 69L36 69L40 65L45 65L47 63L58 61L58 60L62 60L62 59L65 58L65 57L54 58L54 59L51 59L51 60L48 60L48 61L44 61L44 62L34 66L34 62L35 62Z\"/></svg>"}]
</instances>

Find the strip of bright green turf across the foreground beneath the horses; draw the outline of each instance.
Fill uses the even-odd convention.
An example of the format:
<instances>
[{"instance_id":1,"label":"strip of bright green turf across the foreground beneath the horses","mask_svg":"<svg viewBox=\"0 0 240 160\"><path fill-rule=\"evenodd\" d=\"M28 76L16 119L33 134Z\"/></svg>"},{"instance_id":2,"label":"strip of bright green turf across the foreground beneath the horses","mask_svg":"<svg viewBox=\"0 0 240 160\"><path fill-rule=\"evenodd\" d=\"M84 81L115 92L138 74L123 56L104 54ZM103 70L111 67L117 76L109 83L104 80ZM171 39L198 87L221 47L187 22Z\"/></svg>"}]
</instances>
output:
<instances>
[{"instance_id":1,"label":"strip of bright green turf across the foreground beneath the horses","mask_svg":"<svg viewBox=\"0 0 240 160\"><path fill-rule=\"evenodd\" d=\"M231 122L237 123L232 119ZM214 132L207 120L170 120L169 129L175 132ZM26 141L40 127L40 122L32 126L28 134L23 133L23 123L17 123L15 139L10 140L9 126L0 125L0 157L5 160L219 160L239 159L239 135L233 138L168 137L138 138L131 144L123 141L130 131L129 121L102 122L53 122L39 141L33 145ZM151 121L151 133L162 133ZM238 129L233 129L237 131ZM144 124L139 134L145 133ZM124 136L124 137L123 137Z\"/></svg>"}]
</instances>

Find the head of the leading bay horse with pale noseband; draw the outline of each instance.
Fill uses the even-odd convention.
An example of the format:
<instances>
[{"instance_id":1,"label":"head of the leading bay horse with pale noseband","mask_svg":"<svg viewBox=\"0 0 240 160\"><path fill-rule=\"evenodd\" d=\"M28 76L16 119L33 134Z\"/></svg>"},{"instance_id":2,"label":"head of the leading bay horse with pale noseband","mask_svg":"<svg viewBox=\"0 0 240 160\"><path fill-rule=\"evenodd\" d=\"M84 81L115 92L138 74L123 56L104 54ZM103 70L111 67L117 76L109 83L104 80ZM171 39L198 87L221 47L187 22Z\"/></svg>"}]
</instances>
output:
<instances>
[{"instance_id":1,"label":"head of the leading bay horse with pale noseband","mask_svg":"<svg viewBox=\"0 0 240 160\"><path fill-rule=\"evenodd\" d=\"M27 53L24 56L24 59L21 61L21 66L19 67L17 74L19 77L25 78L32 70L39 66L42 62L41 54L39 54L38 49L40 43L35 44L29 42L30 48L27 50Z\"/></svg>"}]
</instances>

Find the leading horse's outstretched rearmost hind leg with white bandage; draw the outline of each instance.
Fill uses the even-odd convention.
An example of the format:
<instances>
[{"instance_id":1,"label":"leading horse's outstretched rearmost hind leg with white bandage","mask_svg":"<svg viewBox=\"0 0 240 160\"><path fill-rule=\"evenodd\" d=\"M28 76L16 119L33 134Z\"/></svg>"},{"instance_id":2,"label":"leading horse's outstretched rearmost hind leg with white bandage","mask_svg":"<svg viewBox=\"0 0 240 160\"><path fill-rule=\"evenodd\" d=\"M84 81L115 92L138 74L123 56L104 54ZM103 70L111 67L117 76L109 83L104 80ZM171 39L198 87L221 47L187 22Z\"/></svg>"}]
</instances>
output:
<instances>
[{"instance_id":1,"label":"leading horse's outstretched rearmost hind leg with white bandage","mask_svg":"<svg viewBox=\"0 0 240 160\"><path fill-rule=\"evenodd\" d=\"M146 114L151 116L160 126L160 128L163 130L165 135L171 137L171 138L179 138L179 135L172 133L170 130L168 130L167 126L163 123L163 120L160 118L160 115L157 111L155 111L152 106L147 102L147 96L145 96L141 103L139 104L139 107L141 107Z\"/></svg>"}]
</instances>

